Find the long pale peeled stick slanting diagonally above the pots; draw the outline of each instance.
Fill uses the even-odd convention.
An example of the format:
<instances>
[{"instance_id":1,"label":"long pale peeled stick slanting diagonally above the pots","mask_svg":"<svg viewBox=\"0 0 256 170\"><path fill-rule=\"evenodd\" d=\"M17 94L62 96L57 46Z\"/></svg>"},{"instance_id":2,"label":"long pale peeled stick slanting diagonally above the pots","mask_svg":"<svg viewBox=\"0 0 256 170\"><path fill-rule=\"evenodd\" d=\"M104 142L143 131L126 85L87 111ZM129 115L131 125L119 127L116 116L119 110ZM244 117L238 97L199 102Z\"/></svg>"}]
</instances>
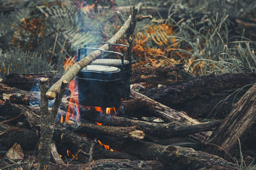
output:
<instances>
[{"instance_id":1,"label":"long pale peeled stick slanting diagonally above the pots","mask_svg":"<svg viewBox=\"0 0 256 170\"><path fill-rule=\"evenodd\" d=\"M132 18L136 18L138 11L140 11L141 9L141 6L142 6L142 3L139 3L138 6L135 8L136 12L133 13L133 15L135 16L130 15L130 17L125 22L125 24L122 25L122 27L118 30L118 32L116 32L115 36L113 36L111 39L108 40L108 43L117 43L117 41L125 34L125 32L127 32L127 30L131 27ZM109 45L104 44L100 46L100 50L109 50ZM68 71L60 78L60 80L54 83L51 89L48 90L48 92L46 93L47 98L48 99L56 98L56 94L60 93L61 82L63 80L66 80L68 83L70 83L70 81L74 79L76 74L79 71L81 71L83 67L88 66L88 64L90 64L93 60L97 59L97 57L101 55L100 50L96 50L90 53L89 55L84 57L84 59L80 60L79 62L76 62L72 67L70 67L70 69L68 69Z\"/></svg>"}]
</instances>

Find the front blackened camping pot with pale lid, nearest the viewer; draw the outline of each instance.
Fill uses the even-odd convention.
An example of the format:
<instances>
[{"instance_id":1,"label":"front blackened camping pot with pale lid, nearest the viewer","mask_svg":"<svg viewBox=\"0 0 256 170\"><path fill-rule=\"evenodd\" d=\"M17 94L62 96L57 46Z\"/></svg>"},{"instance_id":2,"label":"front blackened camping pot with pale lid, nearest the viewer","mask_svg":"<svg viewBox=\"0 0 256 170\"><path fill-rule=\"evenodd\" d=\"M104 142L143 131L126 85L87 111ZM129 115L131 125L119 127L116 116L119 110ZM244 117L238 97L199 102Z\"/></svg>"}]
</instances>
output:
<instances>
[{"instance_id":1,"label":"front blackened camping pot with pale lid, nearest the viewer","mask_svg":"<svg viewBox=\"0 0 256 170\"><path fill-rule=\"evenodd\" d=\"M77 74L77 84L79 104L106 108L120 105L122 80L118 67L86 66Z\"/></svg>"}]
</instances>

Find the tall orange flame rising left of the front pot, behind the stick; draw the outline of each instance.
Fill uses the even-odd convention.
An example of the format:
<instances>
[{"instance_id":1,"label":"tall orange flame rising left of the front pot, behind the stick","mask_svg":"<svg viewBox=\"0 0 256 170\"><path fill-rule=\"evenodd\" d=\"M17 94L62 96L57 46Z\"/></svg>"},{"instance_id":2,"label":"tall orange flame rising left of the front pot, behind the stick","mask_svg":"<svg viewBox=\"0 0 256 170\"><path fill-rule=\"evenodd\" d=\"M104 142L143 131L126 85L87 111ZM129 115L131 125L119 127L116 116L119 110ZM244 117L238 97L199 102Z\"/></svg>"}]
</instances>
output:
<instances>
[{"instance_id":1,"label":"tall orange flame rising left of the front pot, behind the stick","mask_svg":"<svg viewBox=\"0 0 256 170\"><path fill-rule=\"evenodd\" d=\"M72 66L75 62L76 62L76 56L65 59L64 66L63 66L65 71L67 71L68 68ZM70 117L72 118L72 120L75 119L76 122L79 122L79 101L78 101L78 96L76 95L77 93L76 80L70 81L68 89L70 90L71 97L68 104L68 110L66 113L65 122L68 122ZM61 123L63 122L63 115L61 115L60 122Z\"/></svg>"}]
</instances>

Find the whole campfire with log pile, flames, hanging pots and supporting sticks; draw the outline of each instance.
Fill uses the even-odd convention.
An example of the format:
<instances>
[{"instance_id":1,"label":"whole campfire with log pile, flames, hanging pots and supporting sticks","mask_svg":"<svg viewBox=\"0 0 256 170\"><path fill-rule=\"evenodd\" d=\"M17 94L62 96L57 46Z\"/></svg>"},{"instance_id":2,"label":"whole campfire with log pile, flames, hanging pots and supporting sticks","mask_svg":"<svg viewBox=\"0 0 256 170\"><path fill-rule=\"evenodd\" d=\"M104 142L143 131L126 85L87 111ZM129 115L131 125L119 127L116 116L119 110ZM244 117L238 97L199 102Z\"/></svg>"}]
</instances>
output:
<instances>
[{"instance_id":1,"label":"whole campfire with log pile, flames, hanging pots and supporting sticks","mask_svg":"<svg viewBox=\"0 0 256 170\"><path fill-rule=\"evenodd\" d=\"M255 85L241 90L233 110L227 101L225 120L199 122L193 113L215 109L209 101L249 86L255 75L191 78L181 64L132 68L136 21L150 18L138 15L141 5L131 8L126 22L117 13L123 25L109 41L65 60L63 76L12 74L1 81L4 169L236 169L226 153L255 127ZM128 45L116 44L124 34ZM126 55L111 46L127 47ZM99 59L102 53L118 57ZM40 90L28 88L35 80Z\"/></svg>"}]
</instances>

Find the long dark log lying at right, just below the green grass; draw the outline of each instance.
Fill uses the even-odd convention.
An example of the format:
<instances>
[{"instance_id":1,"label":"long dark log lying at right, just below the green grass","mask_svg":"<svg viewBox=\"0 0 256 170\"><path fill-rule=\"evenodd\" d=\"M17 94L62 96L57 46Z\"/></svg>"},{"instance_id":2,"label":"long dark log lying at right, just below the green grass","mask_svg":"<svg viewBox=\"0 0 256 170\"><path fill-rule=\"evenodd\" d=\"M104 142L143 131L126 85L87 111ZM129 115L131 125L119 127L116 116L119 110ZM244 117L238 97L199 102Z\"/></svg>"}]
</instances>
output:
<instances>
[{"instance_id":1,"label":"long dark log lying at right, just below the green grass","mask_svg":"<svg viewBox=\"0 0 256 170\"><path fill-rule=\"evenodd\" d=\"M252 74L221 74L196 77L168 87L159 87L141 91L141 93L160 103L170 106L195 99L205 94L214 95L222 90L232 90L244 85L255 83L256 76Z\"/></svg>"}]
</instances>

